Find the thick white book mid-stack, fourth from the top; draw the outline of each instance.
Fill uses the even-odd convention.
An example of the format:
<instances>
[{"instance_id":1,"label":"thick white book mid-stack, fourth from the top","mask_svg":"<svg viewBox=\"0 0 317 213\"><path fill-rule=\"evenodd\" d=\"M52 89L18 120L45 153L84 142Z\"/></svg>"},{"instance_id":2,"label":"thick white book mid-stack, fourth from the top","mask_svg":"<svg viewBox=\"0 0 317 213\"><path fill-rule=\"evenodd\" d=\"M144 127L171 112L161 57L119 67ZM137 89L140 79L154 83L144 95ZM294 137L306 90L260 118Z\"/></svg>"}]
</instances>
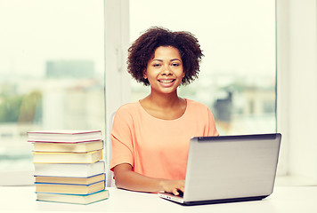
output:
<instances>
[{"instance_id":1,"label":"thick white book mid-stack, fourth from the top","mask_svg":"<svg viewBox=\"0 0 317 213\"><path fill-rule=\"evenodd\" d=\"M91 177L105 171L103 161L94 163L35 163L35 176Z\"/></svg>"}]
</instances>

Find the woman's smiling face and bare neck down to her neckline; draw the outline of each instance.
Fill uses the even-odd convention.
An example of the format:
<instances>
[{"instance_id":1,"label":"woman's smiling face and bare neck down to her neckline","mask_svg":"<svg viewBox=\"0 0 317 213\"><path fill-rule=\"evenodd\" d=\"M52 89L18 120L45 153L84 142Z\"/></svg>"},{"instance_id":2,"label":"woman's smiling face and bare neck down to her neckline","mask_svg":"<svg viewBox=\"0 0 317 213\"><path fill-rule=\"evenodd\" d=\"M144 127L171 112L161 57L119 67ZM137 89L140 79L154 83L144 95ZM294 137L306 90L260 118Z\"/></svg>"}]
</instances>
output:
<instances>
[{"instance_id":1,"label":"woman's smiling face and bare neck down to her neckline","mask_svg":"<svg viewBox=\"0 0 317 213\"><path fill-rule=\"evenodd\" d=\"M175 120L181 117L186 109L186 101L173 99L177 97L177 88L184 76L179 51L172 46L159 46L144 71L144 79L150 83L150 95L140 100L142 107L159 119ZM168 101L172 104L170 107L163 106L165 97L169 97Z\"/></svg>"}]
</instances>

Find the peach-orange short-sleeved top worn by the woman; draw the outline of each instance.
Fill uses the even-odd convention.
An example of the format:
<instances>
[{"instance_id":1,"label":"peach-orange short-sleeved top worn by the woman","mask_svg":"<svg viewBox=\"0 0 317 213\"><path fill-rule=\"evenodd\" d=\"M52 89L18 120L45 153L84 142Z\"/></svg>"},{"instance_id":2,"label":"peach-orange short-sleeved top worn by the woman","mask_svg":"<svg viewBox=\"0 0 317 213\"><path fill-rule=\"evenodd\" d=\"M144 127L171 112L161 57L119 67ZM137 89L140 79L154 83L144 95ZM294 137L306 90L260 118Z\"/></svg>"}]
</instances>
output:
<instances>
[{"instance_id":1,"label":"peach-orange short-sleeved top worn by the woman","mask_svg":"<svg viewBox=\"0 0 317 213\"><path fill-rule=\"evenodd\" d=\"M185 179L191 137L219 135L207 106L186 101L185 113L175 120L151 116L139 101L119 107L111 130L110 169L129 163L146 177Z\"/></svg>"}]
</instances>

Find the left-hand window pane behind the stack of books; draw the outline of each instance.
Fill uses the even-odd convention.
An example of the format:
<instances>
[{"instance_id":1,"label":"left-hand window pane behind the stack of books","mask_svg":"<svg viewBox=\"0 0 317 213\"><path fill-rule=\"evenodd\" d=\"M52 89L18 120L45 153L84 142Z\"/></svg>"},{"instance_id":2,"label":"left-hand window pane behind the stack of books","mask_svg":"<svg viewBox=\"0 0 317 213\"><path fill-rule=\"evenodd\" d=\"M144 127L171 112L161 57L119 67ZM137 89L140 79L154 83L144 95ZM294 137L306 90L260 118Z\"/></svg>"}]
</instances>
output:
<instances>
[{"instance_id":1,"label":"left-hand window pane behind the stack of books","mask_svg":"<svg viewBox=\"0 0 317 213\"><path fill-rule=\"evenodd\" d=\"M29 130L105 130L103 0L2 1L0 26L1 172L32 170Z\"/></svg>"}]
</instances>

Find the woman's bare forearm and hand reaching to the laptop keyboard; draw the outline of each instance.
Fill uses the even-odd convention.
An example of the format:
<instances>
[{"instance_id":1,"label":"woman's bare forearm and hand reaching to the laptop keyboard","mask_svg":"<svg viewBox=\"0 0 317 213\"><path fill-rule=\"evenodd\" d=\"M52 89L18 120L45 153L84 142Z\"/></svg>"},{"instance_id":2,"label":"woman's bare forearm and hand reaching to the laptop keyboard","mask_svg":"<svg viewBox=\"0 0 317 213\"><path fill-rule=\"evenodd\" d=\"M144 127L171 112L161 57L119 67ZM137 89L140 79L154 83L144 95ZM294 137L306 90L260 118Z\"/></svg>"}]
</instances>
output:
<instances>
[{"instance_id":1,"label":"woman's bare forearm and hand reaching to the laptop keyboard","mask_svg":"<svg viewBox=\"0 0 317 213\"><path fill-rule=\"evenodd\" d=\"M128 163L122 163L113 168L116 186L132 191L157 193L164 191L178 195L178 190L184 191L184 180L167 180L145 177L132 170Z\"/></svg>"}]
</instances>

